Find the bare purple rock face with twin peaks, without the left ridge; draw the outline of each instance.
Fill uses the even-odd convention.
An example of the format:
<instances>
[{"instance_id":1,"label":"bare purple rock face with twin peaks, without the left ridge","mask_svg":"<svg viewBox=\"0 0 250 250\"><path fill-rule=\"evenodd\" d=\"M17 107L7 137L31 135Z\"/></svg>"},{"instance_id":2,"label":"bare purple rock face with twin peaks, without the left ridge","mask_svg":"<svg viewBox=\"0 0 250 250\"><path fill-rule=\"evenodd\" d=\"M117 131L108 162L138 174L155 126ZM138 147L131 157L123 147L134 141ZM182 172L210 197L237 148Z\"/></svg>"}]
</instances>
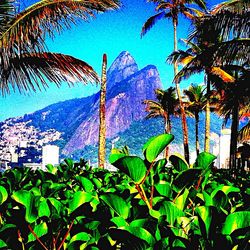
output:
<instances>
[{"instance_id":1,"label":"bare purple rock face with twin peaks, without the left ridge","mask_svg":"<svg viewBox=\"0 0 250 250\"><path fill-rule=\"evenodd\" d=\"M142 101L154 99L154 89L161 88L159 73L155 66L149 65L136 70L134 59L128 52L122 52L111 65L107 79L106 124L107 138L128 129L133 121L145 117ZM109 87L109 84L111 87ZM89 107L89 115L63 149L64 154L98 141L99 96Z\"/></svg>"}]
</instances>

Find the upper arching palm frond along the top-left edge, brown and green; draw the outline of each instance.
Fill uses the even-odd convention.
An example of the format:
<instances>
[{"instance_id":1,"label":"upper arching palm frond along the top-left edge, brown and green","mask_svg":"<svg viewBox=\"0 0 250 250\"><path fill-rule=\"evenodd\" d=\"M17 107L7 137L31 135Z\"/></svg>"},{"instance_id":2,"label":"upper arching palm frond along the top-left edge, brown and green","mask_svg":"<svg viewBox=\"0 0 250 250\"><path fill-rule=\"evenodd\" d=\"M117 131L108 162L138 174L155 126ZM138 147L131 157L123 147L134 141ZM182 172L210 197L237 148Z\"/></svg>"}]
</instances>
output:
<instances>
[{"instance_id":1,"label":"upper arching palm frond along the top-left edge, brown and green","mask_svg":"<svg viewBox=\"0 0 250 250\"><path fill-rule=\"evenodd\" d=\"M7 51L15 46L17 50L30 51L30 45L42 50L44 34L53 37L70 27L77 18L88 20L96 12L119 7L118 0L42 0L28 7L12 18L0 33L0 47ZM34 50L33 50L34 51Z\"/></svg>"}]
</instances>

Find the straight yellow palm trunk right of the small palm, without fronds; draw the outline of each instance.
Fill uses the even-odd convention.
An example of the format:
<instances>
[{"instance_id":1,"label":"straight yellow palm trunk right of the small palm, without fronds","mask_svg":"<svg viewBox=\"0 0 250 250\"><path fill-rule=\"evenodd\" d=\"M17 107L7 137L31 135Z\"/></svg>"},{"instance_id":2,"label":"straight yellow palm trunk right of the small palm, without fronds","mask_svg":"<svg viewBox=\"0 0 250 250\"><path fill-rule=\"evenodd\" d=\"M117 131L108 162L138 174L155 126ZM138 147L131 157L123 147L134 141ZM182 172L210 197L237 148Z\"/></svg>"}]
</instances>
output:
<instances>
[{"instance_id":1,"label":"straight yellow palm trunk right of the small palm, without fronds","mask_svg":"<svg viewBox=\"0 0 250 250\"><path fill-rule=\"evenodd\" d=\"M205 117L205 142L204 142L204 151L210 151L210 79L207 74L207 103L205 109L206 117Z\"/></svg>"}]
</instances>

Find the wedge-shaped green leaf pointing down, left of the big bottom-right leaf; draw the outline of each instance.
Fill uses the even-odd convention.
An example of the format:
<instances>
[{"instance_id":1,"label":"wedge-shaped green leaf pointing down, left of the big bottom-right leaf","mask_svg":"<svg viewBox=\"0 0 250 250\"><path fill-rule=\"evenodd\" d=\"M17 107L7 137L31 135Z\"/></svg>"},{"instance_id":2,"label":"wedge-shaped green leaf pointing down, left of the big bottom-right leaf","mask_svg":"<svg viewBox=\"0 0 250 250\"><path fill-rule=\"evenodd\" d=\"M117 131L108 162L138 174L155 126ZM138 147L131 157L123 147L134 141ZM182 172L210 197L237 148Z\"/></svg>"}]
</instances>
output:
<instances>
[{"instance_id":1,"label":"wedge-shaped green leaf pointing down, left of the big bottom-right leaf","mask_svg":"<svg viewBox=\"0 0 250 250\"><path fill-rule=\"evenodd\" d=\"M197 207L195 211L197 212L199 218L201 219L203 223L203 224L200 224L201 231L203 231L203 228L205 228L205 232L203 233L205 233L206 237L209 237L210 227L211 227L212 217L213 217L212 206L209 206L209 207L200 206L200 207Z\"/></svg>"}]
</instances>

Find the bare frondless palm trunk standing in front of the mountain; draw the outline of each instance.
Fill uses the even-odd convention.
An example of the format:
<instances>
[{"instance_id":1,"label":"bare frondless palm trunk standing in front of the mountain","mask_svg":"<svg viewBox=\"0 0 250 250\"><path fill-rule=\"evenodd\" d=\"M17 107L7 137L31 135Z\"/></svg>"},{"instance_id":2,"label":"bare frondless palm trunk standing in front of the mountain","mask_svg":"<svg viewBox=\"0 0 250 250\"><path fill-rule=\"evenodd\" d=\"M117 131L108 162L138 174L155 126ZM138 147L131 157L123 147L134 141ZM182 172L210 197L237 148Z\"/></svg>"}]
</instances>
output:
<instances>
[{"instance_id":1,"label":"bare frondless palm trunk standing in front of the mountain","mask_svg":"<svg viewBox=\"0 0 250 250\"><path fill-rule=\"evenodd\" d=\"M106 83L107 83L107 55L103 55L101 93L100 93L100 127L98 163L100 168L105 167L106 156Z\"/></svg>"}]
</instances>

